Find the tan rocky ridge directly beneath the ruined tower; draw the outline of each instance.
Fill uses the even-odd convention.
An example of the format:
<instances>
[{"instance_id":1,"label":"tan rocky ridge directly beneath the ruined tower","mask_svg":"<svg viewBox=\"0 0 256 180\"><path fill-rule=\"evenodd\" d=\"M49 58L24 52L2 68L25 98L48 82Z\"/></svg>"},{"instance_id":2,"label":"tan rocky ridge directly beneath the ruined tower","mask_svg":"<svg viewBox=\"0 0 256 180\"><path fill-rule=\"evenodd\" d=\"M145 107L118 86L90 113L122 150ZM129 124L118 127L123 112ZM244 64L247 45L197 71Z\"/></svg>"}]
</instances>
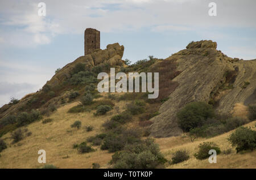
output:
<instances>
[{"instance_id":1,"label":"tan rocky ridge directly beneath the ruined tower","mask_svg":"<svg viewBox=\"0 0 256 180\"><path fill-rule=\"evenodd\" d=\"M124 46L120 46L118 43L109 44L106 49L96 49L91 54L83 55L77 58L75 61L68 63L61 68L51 80L46 84L52 86L59 85L68 78L71 77L71 72L77 63L82 63L86 67L93 67L100 65L101 63L109 63L110 66L119 65L122 62Z\"/></svg>"}]
</instances>

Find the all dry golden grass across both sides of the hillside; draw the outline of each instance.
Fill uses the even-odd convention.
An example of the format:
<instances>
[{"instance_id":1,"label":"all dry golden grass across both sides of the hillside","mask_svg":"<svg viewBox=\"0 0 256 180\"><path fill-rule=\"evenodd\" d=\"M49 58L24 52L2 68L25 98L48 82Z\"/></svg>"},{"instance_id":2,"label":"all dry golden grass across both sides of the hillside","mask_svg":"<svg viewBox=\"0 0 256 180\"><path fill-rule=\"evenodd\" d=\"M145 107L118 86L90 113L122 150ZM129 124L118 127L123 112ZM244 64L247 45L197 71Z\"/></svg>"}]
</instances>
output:
<instances>
[{"instance_id":1,"label":"all dry golden grass across both sides of the hillside","mask_svg":"<svg viewBox=\"0 0 256 180\"><path fill-rule=\"evenodd\" d=\"M11 144L11 134L4 135L2 139L10 145L1 152L0 168L42 168L44 164L38 163L39 149L46 151L47 164L53 164L58 168L92 168L94 162L100 164L101 168L108 168L113 153L102 151L100 147L93 147L97 149L95 152L80 154L77 149L73 149L73 144L81 143L89 136L102 132L102 123L113 114L122 112L128 102L115 101L114 103L113 110L103 116L94 116L95 110L85 113L67 113L78 102L66 104L49 117L44 117L52 118L52 122L43 124L42 119L23 127L28 128L32 135L19 143ZM71 124L77 120L82 122L82 127L79 130L71 128ZM250 122L245 126L251 126L255 129L255 122ZM130 123L130 126L134 124ZM93 126L93 131L86 132L86 126ZM177 149L189 151L189 160L176 165L167 164L166 168L256 168L256 152L236 154L236 150L228 143L229 135L230 132L214 138L196 139L193 143L186 135L155 140L168 160L171 159L172 153ZM193 154L197 151L198 145L206 141L218 144L221 150L232 148L232 153L230 155L218 155L217 164L210 164L208 160L196 160Z\"/></svg>"}]
</instances>

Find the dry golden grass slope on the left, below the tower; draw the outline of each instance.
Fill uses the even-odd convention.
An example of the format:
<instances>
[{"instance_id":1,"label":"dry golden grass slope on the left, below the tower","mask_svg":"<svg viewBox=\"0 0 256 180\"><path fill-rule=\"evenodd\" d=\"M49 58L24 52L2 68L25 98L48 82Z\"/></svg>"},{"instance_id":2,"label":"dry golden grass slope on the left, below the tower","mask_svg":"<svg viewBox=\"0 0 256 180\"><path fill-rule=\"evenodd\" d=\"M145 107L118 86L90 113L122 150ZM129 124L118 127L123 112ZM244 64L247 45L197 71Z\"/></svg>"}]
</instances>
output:
<instances>
[{"instance_id":1,"label":"dry golden grass slope on the left, below the tower","mask_svg":"<svg viewBox=\"0 0 256 180\"><path fill-rule=\"evenodd\" d=\"M0 168L41 168L43 164L38 163L38 151L44 149L46 151L47 164L53 164L59 168L91 168L93 162L101 165L101 168L107 168L108 162L111 160L113 153L102 151L100 147L95 152L79 154L77 149L73 149L73 144L81 143L89 136L100 133L101 125L116 114L118 110L122 111L125 102L115 102L113 110L104 116L93 115L93 112L69 114L68 109L77 105L77 102L65 105L49 118L53 121L43 124L35 122L27 128L32 135L24 138L18 146L18 143L11 144L10 133L2 138L6 140L10 146L1 152ZM76 130L71 128L71 124L76 120L82 122L82 128ZM93 126L93 131L86 132L85 126ZM69 158L63 158L66 156Z\"/></svg>"}]
</instances>

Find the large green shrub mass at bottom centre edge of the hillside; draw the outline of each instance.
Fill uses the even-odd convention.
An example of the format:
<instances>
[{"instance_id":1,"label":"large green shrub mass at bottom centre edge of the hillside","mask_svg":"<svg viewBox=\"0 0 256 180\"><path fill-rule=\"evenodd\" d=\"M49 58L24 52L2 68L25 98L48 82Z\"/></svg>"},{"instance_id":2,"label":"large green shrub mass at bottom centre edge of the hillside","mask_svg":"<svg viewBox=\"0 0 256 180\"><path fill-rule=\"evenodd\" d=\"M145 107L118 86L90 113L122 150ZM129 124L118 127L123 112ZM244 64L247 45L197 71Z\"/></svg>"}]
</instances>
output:
<instances>
[{"instance_id":1,"label":"large green shrub mass at bottom centre edge of the hillside","mask_svg":"<svg viewBox=\"0 0 256 180\"><path fill-rule=\"evenodd\" d=\"M123 151L112 156L110 163L117 169L152 169L166 161L154 140L146 139L140 143L125 145Z\"/></svg>"}]
</instances>

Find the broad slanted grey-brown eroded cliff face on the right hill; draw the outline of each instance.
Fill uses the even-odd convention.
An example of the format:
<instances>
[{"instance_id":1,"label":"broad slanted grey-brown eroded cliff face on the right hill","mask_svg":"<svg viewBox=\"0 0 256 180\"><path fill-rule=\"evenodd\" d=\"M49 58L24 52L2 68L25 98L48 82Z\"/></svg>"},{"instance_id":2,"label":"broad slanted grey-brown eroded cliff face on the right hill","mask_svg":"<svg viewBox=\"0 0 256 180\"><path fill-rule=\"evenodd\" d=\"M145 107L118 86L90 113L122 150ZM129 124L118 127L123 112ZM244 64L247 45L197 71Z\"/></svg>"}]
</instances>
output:
<instances>
[{"instance_id":1,"label":"broad slanted grey-brown eroded cliff face on the right hill","mask_svg":"<svg viewBox=\"0 0 256 180\"><path fill-rule=\"evenodd\" d=\"M151 119L151 136L180 135L176 113L192 101L210 102L220 113L233 113L237 103L255 104L256 59L229 58L216 48L212 41L191 42L167 58L181 71L174 79L179 86L160 106L160 114Z\"/></svg>"}]
</instances>

